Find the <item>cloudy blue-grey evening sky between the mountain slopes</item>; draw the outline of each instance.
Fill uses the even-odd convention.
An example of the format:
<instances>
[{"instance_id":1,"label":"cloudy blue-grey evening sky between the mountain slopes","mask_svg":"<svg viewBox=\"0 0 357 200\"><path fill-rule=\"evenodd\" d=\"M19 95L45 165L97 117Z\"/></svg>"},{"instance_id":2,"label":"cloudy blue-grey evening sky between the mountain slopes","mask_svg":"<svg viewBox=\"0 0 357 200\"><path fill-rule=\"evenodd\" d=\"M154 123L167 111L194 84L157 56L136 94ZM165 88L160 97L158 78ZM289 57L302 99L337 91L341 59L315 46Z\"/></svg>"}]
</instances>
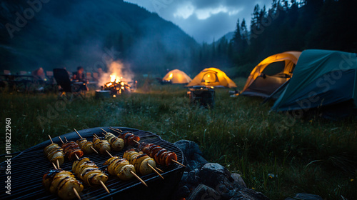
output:
<instances>
[{"instance_id":1,"label":"cloudy blue-grey evening sky between the mountain slopes","mask_svg":"<svg viewBox=\"0 0 357 200\"><path fill-rule=\"evenodd\" d=\"M246 19L249 25L256 4L268 9L272 0L124 0L156 12L174 22L201 43L234 31L236 21Z\"/></svg>"}]
</instances>

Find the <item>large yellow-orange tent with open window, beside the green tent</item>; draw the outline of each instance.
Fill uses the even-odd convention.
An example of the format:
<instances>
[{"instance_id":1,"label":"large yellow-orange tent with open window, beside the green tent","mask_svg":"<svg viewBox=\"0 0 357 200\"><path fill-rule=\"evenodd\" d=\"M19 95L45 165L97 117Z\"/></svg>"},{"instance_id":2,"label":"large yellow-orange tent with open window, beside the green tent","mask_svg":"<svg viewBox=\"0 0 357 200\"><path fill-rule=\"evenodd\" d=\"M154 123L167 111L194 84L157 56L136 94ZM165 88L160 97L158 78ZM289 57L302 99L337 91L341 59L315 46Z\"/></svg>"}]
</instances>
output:
<instances>
[{"instance_id":1,"label":"large yellow-orange tent with open window, beside the green tent","mask_svg":"<svg viewBox=\"0 0 357 200\"><path fill-rule=\"evenodd\" d=\"M286 51L263 59L251 71L241 95L270 96L293 75L300 51Z\"/></svg>"}]
</instances>

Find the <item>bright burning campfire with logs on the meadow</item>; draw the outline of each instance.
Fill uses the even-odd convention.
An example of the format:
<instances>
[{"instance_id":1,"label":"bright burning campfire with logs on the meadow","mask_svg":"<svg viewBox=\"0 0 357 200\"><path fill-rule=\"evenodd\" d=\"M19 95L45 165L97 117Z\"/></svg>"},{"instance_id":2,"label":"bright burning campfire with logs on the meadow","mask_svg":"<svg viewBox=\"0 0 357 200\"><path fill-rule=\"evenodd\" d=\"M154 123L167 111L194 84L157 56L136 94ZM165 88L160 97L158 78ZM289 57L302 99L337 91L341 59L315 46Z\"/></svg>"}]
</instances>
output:
<instances>
[{"instance_id":1,"label":"bright burning campfire with logs on the meadow","mask_svg":"<svg viewBox=\"0 0 357 200\"><path fill-rule=\"evenodd\" d=\"M131 86L128 82L123 81L123 77L116 76L116 74L111 74L110 77L111 81L104 84L104 90L110 91L111 96L116 97L116 95L131 91Z\"/></svg>"}]
</instances>

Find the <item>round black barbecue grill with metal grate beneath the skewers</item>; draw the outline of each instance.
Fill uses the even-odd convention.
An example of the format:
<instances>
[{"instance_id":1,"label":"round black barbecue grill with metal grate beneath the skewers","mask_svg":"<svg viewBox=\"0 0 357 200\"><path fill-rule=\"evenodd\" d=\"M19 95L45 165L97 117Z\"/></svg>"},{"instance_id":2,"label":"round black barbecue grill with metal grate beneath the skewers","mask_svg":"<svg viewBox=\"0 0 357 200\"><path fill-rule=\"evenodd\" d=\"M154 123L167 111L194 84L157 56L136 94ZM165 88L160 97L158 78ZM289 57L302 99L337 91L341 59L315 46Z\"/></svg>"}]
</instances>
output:
<instances>
[{"instance_id":1,"label":"round black barbecue grill with metal grate beneath the skewers","mask_svg":"<svg viewBox=\"0 0 357 200\"><path fill-rule=\"evenodd\" d=\"M93 129L84 129L79 131L81 136L85 137L89 141L93 139L93 134L102 135L101 129L115 132L108 129L108 127L98 127ZM153 143L160 145L161 147L167 149L168 151L173 151L177 155L177 161L183 163L183 154L180 149L178 149L174 144L164 141L160 136L153 134L148 131L141 131L138 129L130 129L125 127L114 127L121 129L122 131L131 131L136 136L140 136L141 141L146 143ZM75 132L65 134L64 136L68 140L76 141L79 136ZM61 146L61 141L58 137L53 138L54 143ZM11 195L6 194L4 181L8 175L5 174L6 164L2 163L0 165L0 180L2 183L0 199L59 199L58 196L46 191L42 185L42 176L46 174L49 169L53 169L52 164L44 156L44 147L51 144L51 141L47 140L36 146L32 146L25 151L22 151L18 156L11 159ZM124 148L122 151L115 152L111 151L111 154L123 156L126 149L131 148L131 146ZM84 154L84 156L89 157L91 161L94 161L103 171L105 166L102 164L104 161L110 158L106 154ZM71 166L73 161L66 160L61 168L67 171L71 171ZM131 179L129 181L121 181L118 177L110 176L109 180L106 181L106 186L111 192L108 194L102 187L91 188L90 186L84 186L84 191L81 192L82 199L169 199L173 193L178 181L181 180L184 168L178 164L171 166L158 166L159 169L164 171L161 173L164 179L161 179L159 175L152 173L146 176L140 176L149 187L141 184L137 179Z\"/></svg>"}]
</instances>

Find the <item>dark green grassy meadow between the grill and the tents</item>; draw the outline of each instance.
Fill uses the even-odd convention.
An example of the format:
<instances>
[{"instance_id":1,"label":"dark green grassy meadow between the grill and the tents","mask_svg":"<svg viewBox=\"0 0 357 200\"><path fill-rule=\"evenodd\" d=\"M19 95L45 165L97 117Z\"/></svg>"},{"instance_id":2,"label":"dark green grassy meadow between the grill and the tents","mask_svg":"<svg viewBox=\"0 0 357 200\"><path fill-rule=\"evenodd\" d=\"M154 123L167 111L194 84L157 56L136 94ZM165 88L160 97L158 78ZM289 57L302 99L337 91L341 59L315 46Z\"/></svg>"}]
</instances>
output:
<instances>
[{"instance_id":1,"label":"dark green grassy meadow between the grill and the tents","mask_svg":"<svg viewBox=\"0 0 357 200\"><path fill-rule=\"evenodd\" d=\"M234 80L243 88L246 79ZM204 157L243 176L249 188L270 199L298 192L323 199L357 196L357 121L292 118L270 112L271 103L216 89L214 109L191 106L183 86L150 86L115 99L58 100L54 93L2 91L3 127L11 118L11 151L96 126L126 126L159 134L171 142L195 141ZM4 134L3 134L4 136ZM4 154L4 140L0 141Z\"/></svg>"}]
</instances>

